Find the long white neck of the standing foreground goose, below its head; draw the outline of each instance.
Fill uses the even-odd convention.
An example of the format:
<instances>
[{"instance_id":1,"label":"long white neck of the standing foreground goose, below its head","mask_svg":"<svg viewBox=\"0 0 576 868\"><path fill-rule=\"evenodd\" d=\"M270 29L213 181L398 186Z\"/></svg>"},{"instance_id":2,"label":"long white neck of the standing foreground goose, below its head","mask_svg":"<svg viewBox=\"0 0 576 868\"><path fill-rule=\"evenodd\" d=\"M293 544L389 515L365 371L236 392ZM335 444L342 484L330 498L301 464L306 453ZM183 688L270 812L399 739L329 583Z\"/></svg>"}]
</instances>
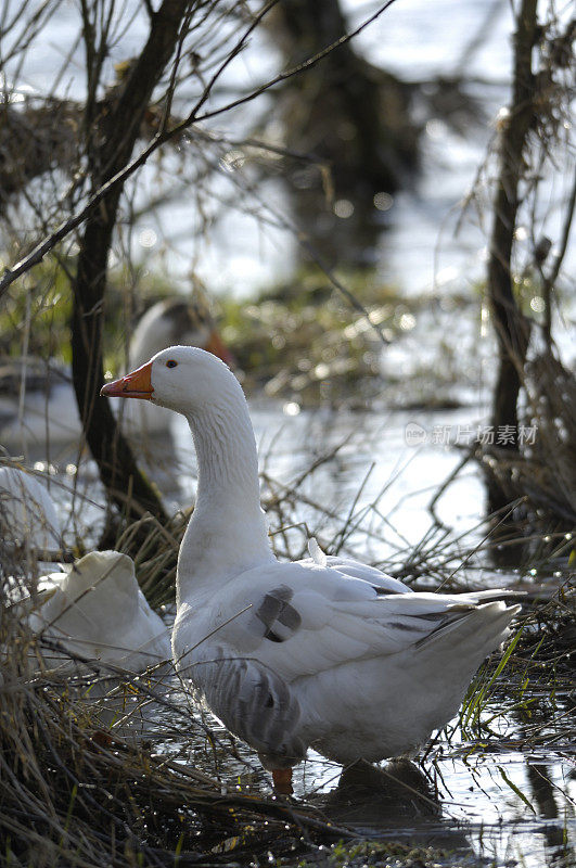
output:
<instances>
[{"instance_id":1,"label":"long white neck of the standing foreground goose, below its head","mask_svg":"<svg viewBox=\"0 0 576 868\"><path fill-rule=\"evenodd\" d=\"M274 560L260 507L254 431L240 385L219 406L187 418L199 487L178 558L177 604L201 588Z\"/></svg>"}]
</instances>

